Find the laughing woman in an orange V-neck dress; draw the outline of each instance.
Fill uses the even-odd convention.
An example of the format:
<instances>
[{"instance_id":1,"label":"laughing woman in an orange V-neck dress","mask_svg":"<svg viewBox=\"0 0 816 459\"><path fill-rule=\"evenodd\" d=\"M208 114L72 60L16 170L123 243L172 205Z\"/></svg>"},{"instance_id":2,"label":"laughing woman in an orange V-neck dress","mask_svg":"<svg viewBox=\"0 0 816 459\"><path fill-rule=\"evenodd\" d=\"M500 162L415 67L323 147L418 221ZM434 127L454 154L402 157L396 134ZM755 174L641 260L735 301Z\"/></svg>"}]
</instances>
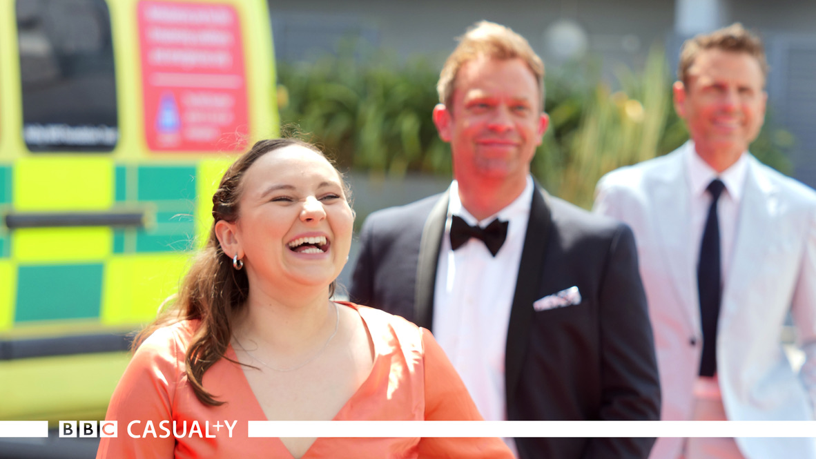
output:
<instances>
[{"instance_id":1,"label":"laughing woman in an orange V-neck dress","mask_svg":"<svg viewBox=\"0 0 816 459\"><path fill-rule=\"evenodd\" d=\"M248 438L251 420L481 419L427 330L330 301L352 240L347 195L294 139L229 167L205 249L135 341L108 409L119 435L98 458L512 457L499 439Z\"/></svg>"}]
</instances>

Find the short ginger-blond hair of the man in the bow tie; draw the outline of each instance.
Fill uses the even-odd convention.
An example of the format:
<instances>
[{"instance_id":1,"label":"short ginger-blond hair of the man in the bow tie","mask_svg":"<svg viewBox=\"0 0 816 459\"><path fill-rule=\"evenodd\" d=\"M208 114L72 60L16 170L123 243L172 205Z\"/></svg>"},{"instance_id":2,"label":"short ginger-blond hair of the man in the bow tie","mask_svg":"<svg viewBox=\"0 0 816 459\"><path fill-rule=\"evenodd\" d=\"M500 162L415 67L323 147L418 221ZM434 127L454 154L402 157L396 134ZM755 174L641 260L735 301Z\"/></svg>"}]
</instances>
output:
<instances>
[{"instance_id":1,"label":"short ginger-blond hair of the man in the bow tie","mask_svg":"<svg viewBox=\"0 0 816 459\"><path fill-rule=\"evenodd\" d=\"M439 102L445 104L449 109L453 108L452 100L456 86L456 74L459 68L470 61L481 56L490 59L510 60L521 59L530 68L530 72L535 76L535 81L539 86L541 95L541 108L544 104L544 63L535 54L532 46L524 37L512 31L512 29L501 24L482 20L473 24L467 32L457 38L459 45L454 52L448 56L445 66L439 74L437 82L437 92Z\"/></svg>"}]
</instances>

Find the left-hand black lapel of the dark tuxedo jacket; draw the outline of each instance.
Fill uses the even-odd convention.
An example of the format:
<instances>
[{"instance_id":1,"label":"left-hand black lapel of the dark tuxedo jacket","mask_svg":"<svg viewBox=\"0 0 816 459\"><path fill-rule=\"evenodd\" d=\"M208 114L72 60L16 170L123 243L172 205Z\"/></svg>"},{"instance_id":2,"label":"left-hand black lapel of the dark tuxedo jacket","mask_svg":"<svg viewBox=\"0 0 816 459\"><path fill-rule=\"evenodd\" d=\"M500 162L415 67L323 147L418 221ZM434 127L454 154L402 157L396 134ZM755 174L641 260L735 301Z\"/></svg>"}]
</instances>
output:
<instances>
[{"instance_id":1,"label":"left-hand black lapel of the dark tuxedo jacket","mask_svg":"<svg viewBox=\"0 0 816 459\"><path fill-rule=\"evenodd\" d=\"M414 290L414 321L420 327L431 329L433 321L433 294L437 283L437 266L442 235L448 216L449 191L442 194L425 220L419 242L419 260L416 264Z\"/></svg>"}]
</instances>

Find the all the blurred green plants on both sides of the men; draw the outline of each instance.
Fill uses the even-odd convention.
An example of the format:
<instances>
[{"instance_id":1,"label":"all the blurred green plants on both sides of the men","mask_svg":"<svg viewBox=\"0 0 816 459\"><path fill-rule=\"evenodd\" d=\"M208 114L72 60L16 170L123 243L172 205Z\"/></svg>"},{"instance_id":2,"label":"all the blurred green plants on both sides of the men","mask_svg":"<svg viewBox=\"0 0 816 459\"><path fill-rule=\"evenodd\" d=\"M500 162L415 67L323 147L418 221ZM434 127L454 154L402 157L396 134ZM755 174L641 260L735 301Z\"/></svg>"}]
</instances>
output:
<instances>
[{"instance_id":1,"label":"all the blurred green plants on both sides of the men","mask_svg":"<svg viewBox=\"0 0 816 459\"><path fill-rule=\"evenodd\" d=\"M616 87L596 59L548 68L548 132L531 170L552 194L589 207L595 183L610 170L671 152L688 133L672 105L672 75L659 46L640 71L619 68ZM314 135L341 167L400 177L406 171L450 174L450 149L432 122L438 69L428 60L400 63L382 50L344 43L311 64L278 64L289 93L284 123ZM788 173L792 135L766 119L752 153Z\"/></svg>"}]
</instances>

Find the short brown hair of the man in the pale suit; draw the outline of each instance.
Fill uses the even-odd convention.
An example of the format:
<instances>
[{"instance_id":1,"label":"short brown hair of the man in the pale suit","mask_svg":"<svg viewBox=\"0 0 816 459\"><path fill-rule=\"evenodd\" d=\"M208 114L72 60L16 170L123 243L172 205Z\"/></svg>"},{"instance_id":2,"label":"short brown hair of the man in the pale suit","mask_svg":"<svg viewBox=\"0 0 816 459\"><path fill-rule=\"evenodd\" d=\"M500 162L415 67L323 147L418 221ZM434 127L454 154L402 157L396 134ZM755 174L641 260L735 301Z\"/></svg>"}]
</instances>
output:
<instances>
[{"instance_id":1,"label":"short brown hair of the man in the pale suit","mask_svg":"<svg viewBox=\"0 0 816 459\"><path fill-rule=\"evenodd\" d=\"M677 65L677 79L685 86L689 84L689 70L701 51L721 50L734 53L746 53L756 59L762 70L762 79L768 77L768 62L765 60L765 46L756 34L743 28L743 24L734 23L712 33L700 33L683 43L680 51L680 63Z\"/></svg>"}]
</instances>

